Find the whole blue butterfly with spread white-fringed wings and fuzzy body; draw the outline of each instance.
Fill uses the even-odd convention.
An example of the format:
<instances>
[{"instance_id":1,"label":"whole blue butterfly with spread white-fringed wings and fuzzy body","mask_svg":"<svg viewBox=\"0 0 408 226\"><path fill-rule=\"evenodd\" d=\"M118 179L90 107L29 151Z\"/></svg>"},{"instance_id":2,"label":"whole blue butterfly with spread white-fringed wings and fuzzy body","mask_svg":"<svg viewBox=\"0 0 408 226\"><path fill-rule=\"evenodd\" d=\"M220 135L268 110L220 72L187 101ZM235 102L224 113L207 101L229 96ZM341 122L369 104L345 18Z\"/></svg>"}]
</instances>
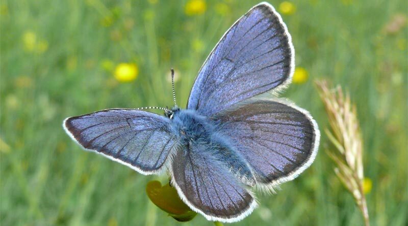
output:
<instances>
[{"instance_id":1,"label":"whole blue butterfly with spread white-fringed wings and fuzzy body","mask_svg":"<svg viewBox=\"0 0 408 226\"><path fill-rule=\"evenodd\" d=\"M293 71L288 29L271 5L261 3L212 50L187 109L174 103L160 108L164 116L107 109L67 118L63 126L86 150L141 174L168 170L191 209L209 220L234 222L256 208L254 188L271 190L294 179L316 156L320 132L307 111L254 97L281 91Z\"/></svg>"}]
</instances>

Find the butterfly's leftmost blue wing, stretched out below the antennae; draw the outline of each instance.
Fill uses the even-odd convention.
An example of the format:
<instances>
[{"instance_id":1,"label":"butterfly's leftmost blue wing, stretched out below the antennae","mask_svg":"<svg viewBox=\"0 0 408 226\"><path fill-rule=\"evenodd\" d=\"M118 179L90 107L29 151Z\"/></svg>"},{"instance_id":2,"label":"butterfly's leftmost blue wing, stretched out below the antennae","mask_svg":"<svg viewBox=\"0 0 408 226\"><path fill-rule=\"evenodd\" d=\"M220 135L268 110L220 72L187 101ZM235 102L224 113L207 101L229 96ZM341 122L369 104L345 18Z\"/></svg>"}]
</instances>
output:
<instances>
[{"instance_id":1,"label":"butterfly's leftmost blue wing, stretched out below the antennae","mask_svg":"<svg viewBox=\"0 0 408 226\"><path fill-rule=\"evenodd\" d=\"M176 143L166 117L131 109L108 109L65 119L70 137L142 174L157 173Z\"/></svg>"}]
</instances>

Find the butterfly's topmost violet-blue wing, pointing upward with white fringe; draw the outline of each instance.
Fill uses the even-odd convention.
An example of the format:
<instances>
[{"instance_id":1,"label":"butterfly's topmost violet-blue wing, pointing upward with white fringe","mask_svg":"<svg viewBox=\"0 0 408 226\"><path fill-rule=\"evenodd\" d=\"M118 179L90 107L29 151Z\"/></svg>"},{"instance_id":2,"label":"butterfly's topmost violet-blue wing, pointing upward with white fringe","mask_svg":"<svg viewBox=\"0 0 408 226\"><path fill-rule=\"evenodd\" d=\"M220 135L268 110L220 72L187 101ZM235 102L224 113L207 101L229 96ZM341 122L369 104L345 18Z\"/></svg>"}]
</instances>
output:
<instances>
[{"instance_id":1,"label":"butterfly's topmost violet-blue wing, pointing upward with white fringe","mask_svg":"<svg viewBox=\"0 0 408 226\"><path fill-rule=\"evenodd\" d=\"M243 15L203 64L187 108L210 116L291 82L294 49L281 16L261 3Z\"/></svg>"}]
</instances>

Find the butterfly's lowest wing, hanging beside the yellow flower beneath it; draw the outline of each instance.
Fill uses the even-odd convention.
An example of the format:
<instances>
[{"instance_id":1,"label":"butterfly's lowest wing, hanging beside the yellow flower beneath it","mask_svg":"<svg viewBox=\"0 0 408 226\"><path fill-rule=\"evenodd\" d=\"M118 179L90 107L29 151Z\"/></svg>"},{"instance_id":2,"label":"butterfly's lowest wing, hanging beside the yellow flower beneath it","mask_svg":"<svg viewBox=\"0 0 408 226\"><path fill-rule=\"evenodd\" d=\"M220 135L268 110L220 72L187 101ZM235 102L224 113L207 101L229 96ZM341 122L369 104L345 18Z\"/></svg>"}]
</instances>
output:
<instances>
[{"instance_id":1,"label":"butterfly's lowest wing, hanging beside the yellow flower beneath it","mask_svg":"<svg viewBox=\"0 0 408 226\"><path fill-rule=\"evenodd\" d=\"M183 201L208 220L238 221L257 206L245 186L204 146L190 142L178 150L171 175Z\"/></svg>"}]
</instances>

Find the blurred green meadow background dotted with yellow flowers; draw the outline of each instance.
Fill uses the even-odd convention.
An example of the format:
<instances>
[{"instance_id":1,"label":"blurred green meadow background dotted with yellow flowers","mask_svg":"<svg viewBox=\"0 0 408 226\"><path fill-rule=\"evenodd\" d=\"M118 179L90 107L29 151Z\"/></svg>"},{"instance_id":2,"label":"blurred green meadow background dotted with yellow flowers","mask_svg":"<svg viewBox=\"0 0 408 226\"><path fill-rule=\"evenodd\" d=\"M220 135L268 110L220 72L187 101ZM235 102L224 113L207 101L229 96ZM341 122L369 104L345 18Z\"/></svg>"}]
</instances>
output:
<instances>
[{"instance_id":1,"label":"blurred green meadow background dotted with yellow flowers","mask_svg":"<svg viewBox=\"0 0 408 226\"><path fill-rule=\"evenodd\" d=\"M202 62L257 3L3 0L1 224L182 224L145 194L148 181L165 177L82 151L62 120L106 108L172 106L171 67L185 106ZM407 2L270 3L288 25L299 72L282 96L311 112L322 141L310 169L276 195L258 193L260 207L234 224L363 224L324 152L328 123L314 80L325 78L349 91L358 109L371 224L407 225ZM198 215L184 225L212 223Z\"/></svg>"}]
</instances>

